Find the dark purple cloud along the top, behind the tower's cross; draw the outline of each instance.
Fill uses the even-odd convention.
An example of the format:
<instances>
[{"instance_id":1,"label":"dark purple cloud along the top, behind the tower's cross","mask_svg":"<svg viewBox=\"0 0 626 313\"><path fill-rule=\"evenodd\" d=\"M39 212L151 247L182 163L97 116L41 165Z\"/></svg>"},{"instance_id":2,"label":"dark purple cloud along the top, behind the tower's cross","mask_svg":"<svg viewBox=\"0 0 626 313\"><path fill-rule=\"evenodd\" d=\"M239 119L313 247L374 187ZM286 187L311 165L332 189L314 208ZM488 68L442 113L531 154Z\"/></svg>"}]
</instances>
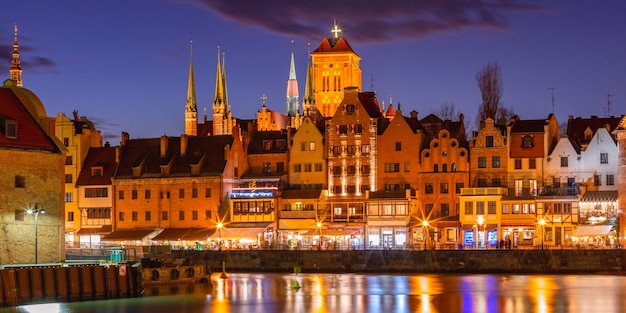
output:
<instances>
[{"instance_id":1,"label":"dark purple cloud along the top, behind the tower's cross","mask_svg":"<svg viewBox=\"0 0 626 313\"><path fill-rule=\"evenodd\" d=\"M537 0L175 0L239 23L308 37L327 34L332 19L361 43L415 39L471 28L507 29L507 14L541 11Z\"/></svg>"}]
</instances>

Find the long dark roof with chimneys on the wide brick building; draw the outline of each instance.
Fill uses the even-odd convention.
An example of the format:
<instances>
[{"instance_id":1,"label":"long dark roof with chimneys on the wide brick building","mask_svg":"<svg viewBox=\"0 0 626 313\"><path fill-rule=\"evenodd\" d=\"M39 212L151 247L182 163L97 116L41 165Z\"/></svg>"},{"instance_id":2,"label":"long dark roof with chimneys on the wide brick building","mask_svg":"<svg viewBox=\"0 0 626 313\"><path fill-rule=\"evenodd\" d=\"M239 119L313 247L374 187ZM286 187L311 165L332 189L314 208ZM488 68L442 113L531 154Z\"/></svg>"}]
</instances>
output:
<instances>
[{"instance_id":1,"label":"long dark roof with chimneys on the wide brick building","mask_svg":"<svg viewBox=\"0 0 626 313\"><path fill-rule=\"evenodd\" d=\"M161 141L167 143L161 156ZM225 147L233 143L232 135L196 137L188 136L187 149L181 154L181 137L163 137L128 140L122 146L120 164L116 178L133 177L133 169L139 177L161 177L161 166L168 166L167 176L191 175L191 166L199 164L199 175L219 175L224 171L227 160ZM137 177L137 173L135 176Z\"/></svg>"}]
</instances>

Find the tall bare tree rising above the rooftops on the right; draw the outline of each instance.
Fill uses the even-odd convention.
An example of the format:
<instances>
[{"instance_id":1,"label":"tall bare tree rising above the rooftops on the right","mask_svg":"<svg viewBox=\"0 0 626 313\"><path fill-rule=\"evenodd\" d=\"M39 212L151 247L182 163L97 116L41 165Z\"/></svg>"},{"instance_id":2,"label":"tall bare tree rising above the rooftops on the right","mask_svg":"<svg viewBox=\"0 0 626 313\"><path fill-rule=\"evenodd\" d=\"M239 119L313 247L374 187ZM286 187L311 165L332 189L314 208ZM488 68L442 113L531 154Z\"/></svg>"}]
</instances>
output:
<instances>
[{"instance_id":1,"label":"tall bare tree rising above the rooftops on the right","mask_svg":"<svg viewBox=\"0 0 626 313\"><path fill-rule=\"evenodd\" d=\"M490 117L497 120L500 98L504 89L500 65L497 62L487 63L476 74L476 82L482 96L482 103L478 107L479 119L482 121Z\"/></svg>"}]
</instances>

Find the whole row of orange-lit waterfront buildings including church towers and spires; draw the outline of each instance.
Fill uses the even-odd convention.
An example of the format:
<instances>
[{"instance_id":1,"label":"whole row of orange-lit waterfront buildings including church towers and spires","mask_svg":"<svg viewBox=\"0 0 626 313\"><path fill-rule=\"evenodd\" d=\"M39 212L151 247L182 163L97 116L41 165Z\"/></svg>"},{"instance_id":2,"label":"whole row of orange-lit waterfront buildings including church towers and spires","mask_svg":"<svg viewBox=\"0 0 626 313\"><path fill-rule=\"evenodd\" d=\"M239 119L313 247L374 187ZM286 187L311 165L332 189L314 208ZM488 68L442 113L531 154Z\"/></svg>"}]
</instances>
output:
<instances>
[{"instance_id":1,"label":"whole row of orange-lit waterfront buildings including church towers and spires","mask_svg":"<svg viewBox=\"0 0 626 313\"><path fill-rule=\"evenodd\" d=\"M65 247L400 249L574 247L624 235L626 118L419 117L362 91L345 38L310 53L302 108L235 118L218 51L212 120L190 59L185 133L102 142L75 111L48 117L22 87L17 31L0 88L2 262ZM264 97L263 97L264 98ZM621 160L621 161L620 161ZM620 175L621 174L621 175ZM621 188L620 188L621 187ZM45 211L44 211L45 210ZM45 213L45 214L44 214ZM33 227L34 217L34 227ZM37 231L39 231L37 233ZM39 234L39 235L37 235ZM36 248L37 249L37 248Z\"/></svg>"}]
</instances>

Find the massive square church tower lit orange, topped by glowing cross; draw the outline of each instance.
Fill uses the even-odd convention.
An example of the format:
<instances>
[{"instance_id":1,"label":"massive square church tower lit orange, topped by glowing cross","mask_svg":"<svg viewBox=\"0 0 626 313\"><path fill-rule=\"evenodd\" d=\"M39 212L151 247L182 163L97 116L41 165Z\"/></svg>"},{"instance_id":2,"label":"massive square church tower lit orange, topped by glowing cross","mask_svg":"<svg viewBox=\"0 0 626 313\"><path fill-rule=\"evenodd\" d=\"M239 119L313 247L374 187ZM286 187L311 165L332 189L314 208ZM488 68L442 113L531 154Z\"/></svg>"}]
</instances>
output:
<instances>
[{"instance_id":1,"label":"massive square church tower lit orange, topped by glowing cross","mask_svg":"<svg viewBox=\"0 0 626 313\"><path fill-rule=\"evenodd\" d=\"M313 62L312 78L315 105L325 117L333 116L346 87L357 87L362 91L361 68L358 56L348 41L340 35L335 23L333 37L324 38L319 47L311 53Z\"/></svg>"}]
</instances>

